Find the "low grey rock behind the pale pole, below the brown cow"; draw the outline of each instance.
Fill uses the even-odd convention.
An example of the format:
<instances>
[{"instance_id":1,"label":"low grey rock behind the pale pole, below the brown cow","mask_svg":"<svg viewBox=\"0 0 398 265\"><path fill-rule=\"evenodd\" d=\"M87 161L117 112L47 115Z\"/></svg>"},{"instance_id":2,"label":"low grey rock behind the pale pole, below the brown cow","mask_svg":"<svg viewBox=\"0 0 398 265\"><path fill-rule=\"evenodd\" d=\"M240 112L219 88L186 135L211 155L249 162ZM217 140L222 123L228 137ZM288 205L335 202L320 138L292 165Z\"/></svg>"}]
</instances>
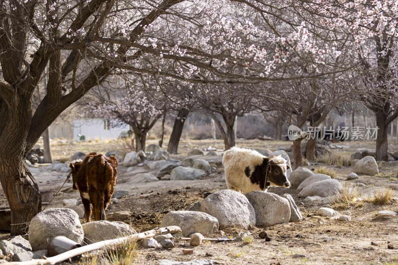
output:
<instances>
[{"instance_id":1,"label":"low grey rock behind the pale pole, below the brown cow","mask_svg":"<svg viewBox=\"0 0 398 265\"><path fill-rule=\"evenodd\" d=\"M123 222L103 220L83 224L83 231L87 244L137 233L132 227Z\"/></svg>"}]
</instances>

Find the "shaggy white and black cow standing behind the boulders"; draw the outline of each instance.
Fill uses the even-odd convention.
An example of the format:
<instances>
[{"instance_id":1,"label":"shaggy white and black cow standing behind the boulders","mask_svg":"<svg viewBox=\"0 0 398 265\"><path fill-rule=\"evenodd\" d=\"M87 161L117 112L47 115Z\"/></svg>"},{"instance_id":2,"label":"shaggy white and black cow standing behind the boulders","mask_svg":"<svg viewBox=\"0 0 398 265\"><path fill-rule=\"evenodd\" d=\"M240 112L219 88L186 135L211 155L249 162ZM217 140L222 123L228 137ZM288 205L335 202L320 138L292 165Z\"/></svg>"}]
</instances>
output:
<instances>
[{"instance_id":1,"label":"shaggy white and black cow standing behind the boulders","mask_svg":"<svg viewBox=\"0 0 398 265\"><path fill-rule=\"evenodd\" d=\"M266 157L251 149L232 147L222 158L225 181L230 190L243 194L266 192L268 187L290 186L286 171L290 168L282 156Z\"/></svg>"}]
</instances>

